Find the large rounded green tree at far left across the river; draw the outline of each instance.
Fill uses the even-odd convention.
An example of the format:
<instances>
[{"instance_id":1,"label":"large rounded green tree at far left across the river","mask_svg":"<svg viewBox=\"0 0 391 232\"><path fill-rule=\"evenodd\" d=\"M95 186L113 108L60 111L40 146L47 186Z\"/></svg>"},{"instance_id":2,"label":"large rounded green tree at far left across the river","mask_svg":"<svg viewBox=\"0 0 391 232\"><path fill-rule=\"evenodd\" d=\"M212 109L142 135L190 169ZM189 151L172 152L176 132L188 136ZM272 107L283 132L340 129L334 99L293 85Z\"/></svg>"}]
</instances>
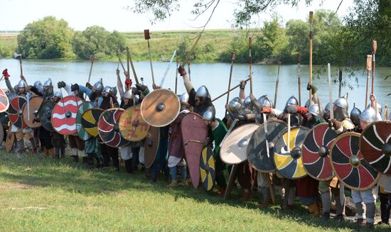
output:
<instances>
[{"instance_id":1,"label":"large rounded green tree at far left across the river","mask_svg":"<svg viewBox=\"0 0 391 232\"><path fill-rule=\"evenodd\" d=\"M28 23L18 34L17 52L29 58L62 58L71 55L72 29L63 19L47 16Z\"/></svg>"}]
</instances>

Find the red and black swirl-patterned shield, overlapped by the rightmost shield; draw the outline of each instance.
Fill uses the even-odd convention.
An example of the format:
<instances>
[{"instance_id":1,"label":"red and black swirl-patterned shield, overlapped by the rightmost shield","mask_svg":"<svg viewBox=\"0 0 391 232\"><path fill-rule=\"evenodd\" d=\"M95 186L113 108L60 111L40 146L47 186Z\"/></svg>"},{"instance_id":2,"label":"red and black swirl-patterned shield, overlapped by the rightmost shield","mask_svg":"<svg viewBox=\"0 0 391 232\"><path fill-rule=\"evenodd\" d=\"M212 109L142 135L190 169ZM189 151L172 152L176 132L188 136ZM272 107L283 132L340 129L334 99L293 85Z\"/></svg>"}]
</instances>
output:
<instances>
[{"instance_id":1,"label":"red and black swirl-patterned shield, overlapped by the rightmost shield","mask_svg":"<svg viewBox=\"0 0 391 232\"><path fill-rule=\"evenodd\" d=\"M373 187L380 174L364 159L359 141L359 133L349 132L338 136L331 145L330 158L338 179L350 189L362 191Z\"/></svg>"}]
</instances>

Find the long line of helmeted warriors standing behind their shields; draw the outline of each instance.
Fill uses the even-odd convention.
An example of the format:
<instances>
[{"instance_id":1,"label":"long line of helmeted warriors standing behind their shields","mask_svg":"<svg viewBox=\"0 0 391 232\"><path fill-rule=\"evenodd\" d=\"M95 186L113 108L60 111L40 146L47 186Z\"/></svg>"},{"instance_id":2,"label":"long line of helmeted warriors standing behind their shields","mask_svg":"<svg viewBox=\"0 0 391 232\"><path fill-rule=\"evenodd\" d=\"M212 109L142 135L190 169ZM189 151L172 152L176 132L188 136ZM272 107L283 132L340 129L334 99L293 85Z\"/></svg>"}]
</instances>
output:
<instances>
[{"instance_id":1,"label":"long line of helmeted warriors standing behind their shields","mask_svg":"<svg viewBox=\"0 0 391 232\"><path fill-rule=\"evenodd\" d=\"M228 171L230 179L233 179L235 185L242 189L243 200L250 199L253 191L262 194L262 202L260 202L259 208L269 206L274 197L272 195L274 195L274 192L278 192L283 201L286 201L287 210L294 208L296 197L299 197L301 204L308 206L309 214L328 220L331 217L331 199L333 198L336 201L335 219L345 219L345 186L339 177L334 175L330 179L318 180L311 175L307 175L307 173L300 175L297 170L294 170L291 177L284 175L282 171L280 172L280 169L264 172L264 170L255 168L254 163L250 162L250 155L254 154L247 154L248 160L246 158L232 165L232 163L225 162L224 155L220 152L221 145L227 139L227 136L231 135L229 131L233 130L235 133L236 128L247 124L257 124L259 126L272 121L284 122L284 125L290 123L291 136L294 136L292 134L294 134L295 128L311 129L325 122L328 123L328 128L337 136L349 132L361 133L371 123L382 121L382 106L380 104L377 103L377 109L368 106L363 111L353 107L349 115L348 94L336 99L333 102L333 109L330 109L330 104L326 104L323 108L318 101L316 87L309 85L307 89L311 90L313 94L311 101L307 101L305 106L299 106L297 99L291 96L286 101L284 109L279 110L274 108L272 101L266 95L259 99L256 99L252 94L246 96L246 82L242 81L240 82L239 96L230 100L229 104L225 106L227 114L223 120L220 120L215 116L215 106L213 106L207 87L201 86L195 90L182 66L178 68L178 72L183 77L186 93L178 95L181 109L176 119L168 126L159 128L159 149L153 165L146 170L151 177L151 182L156 182L157 177L162 174L167 181L171 177L171 183L168 187L188 185L188 160L186 160L186 150L181 137L181 121L186 114L195 113L203 118L203 123L208 128L208 138L204 145L213 150L215 179L212 184L214 184L218 194L225 194L227 191L225 172ZM117 87L104 87L102 79L93 85L87 83L82 86L65 82L58 82L57 85L59 89L63 89L70 96L75 95L82 99L84 95L87 96L85 100L89 100L92 107L102 110L112 109L113 107L128 109L131 106L141 104L150 91L144 84L136 84L135 87L129 88L132 82L129 75L126 72L124 74L126 76L125 86L127 86L125 89L119 76L119 70L117 70ZM26 79L22 76L18 85L13 88L6 77L6 84L9 88L7 95L10 101L16 96L31 98L31 95L36 95L44 97L46 101L58 102L63 97L61 92L53 93L53 84L50 79L43 85L38 81L31 86L26 84ZM153 89L159 88L153 86ZM119 99L117 99L117 92L120 96ZM371 94L370 101L376 102L374 94ZM334 118L330 118L331 111L333 111ZM37 120L39 119L37 118ZM119 170L120 158L124 162L126 172L132 173L138 170L139 167L144 170L143 143L128 143L121 148L113 148L103 143L99 137L91 137L84 141L79 136L70 135L65 139L65 136L60 133L47 131L43 127L33 130L31 128L21 129L16 128L9 122L4 123L4 121L3 126L7 133L6 149L9 151L14 150L16 153L21 153L24 149L23 138L26 138L31 141L34 153L37 152L37 144L39 144L47 155L62 158L65 155L65 144L68 143L71 150L70 157L77 162L79 153L82 153L83 162L89 167L112 166L114 170ZM308 132L308 129L304 131ZM284 134L284 131L277 131L277 133ZM388 136L388 141L385 142L390 143L390 136ZM288 143L291 142L288 141ZM266 157L266 155L267 159L269 157L273 158L274 151L271 154L269 154L269 151L273 150L274 146L277 146L277 144L267 144L267 151L264 150L259 155L259 159L262 160L262 157ZM293 144L291 147L293 151L290 153L294 153L295 148ZM274 160L276 159L274 157ZM234 166L237 170L234 173L235 176L232 176L232 167ZM297 166L296 168L299 169L300 164ZM301 168L302 166L301 163ZM181 180L179 180L178 174L180 174ZM357 211L357 222L361 226L373 228L377 197L380 197L381 202L382 223L389 223L391 177L380 172L379 176L380 180L375 177L377 184L375 183L373 187L368 189L348 189L346 187L351 192ZM272 190L270 189L271 184L274 188Z\"/></svg>"}]
</instances>

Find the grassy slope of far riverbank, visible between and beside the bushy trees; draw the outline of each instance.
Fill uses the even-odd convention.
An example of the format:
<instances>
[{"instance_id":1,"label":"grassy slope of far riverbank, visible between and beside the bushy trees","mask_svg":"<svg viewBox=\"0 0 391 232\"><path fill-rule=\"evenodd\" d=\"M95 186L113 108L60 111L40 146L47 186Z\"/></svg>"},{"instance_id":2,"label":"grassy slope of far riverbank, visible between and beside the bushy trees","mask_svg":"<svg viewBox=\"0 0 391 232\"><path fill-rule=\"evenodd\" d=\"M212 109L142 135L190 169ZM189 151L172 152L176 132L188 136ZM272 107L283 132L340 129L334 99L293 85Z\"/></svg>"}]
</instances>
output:
<instances>
[{"instance_id":1,"label":"grassy slope of far riverbank, visible between and beside the bushy trees","mask_svg":"<svg viewBox=\"0 0 391 232\"><path fill-rule=\"evenodd\" d=\"M16 47L17 33L0 33L0 54L3 57L12 57ZM144 32L122 33L126 38L126 46L132 53L132 60L149 60L148 45L144 39ZM151 57L154 61L167 61L171 58L174 50L186 45L190 49L197 36L195 31L151 31ZM230 30L210 30L203 33L203 38L195 48L198 62L217 62L220 56L227 53L230 48L234 33ZM183 43L183 41L185 41ZM122 55L125 60L125 53ZM66 57L65 60L76 59L75 55ZM63 60L63 59L62 59ZM117 57L102 57L101 60L118 60Z\"/></svg>"}]
</instances>

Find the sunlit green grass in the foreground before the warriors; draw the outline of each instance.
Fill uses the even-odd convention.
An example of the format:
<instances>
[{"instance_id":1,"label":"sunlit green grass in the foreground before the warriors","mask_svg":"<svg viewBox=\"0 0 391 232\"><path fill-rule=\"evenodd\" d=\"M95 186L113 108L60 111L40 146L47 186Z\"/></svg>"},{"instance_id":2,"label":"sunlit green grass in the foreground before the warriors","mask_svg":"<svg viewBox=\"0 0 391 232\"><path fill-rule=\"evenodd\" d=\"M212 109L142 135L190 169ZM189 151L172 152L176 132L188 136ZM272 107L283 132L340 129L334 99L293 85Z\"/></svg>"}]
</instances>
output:
<instances>
[{"instance_id":1,"label":"sunlit green grass in the foreground before the warriors","mask_svg":"<svg viewBox=\"0 0 391 232\"><path fill-rule=\"evenodd\" d=\"M68 158L0 153L0 231L355 231L323 223L306 210L290 214L257 201L224 201L215 192L144 174L88 170ZM257 198L257 197L256 197ZM387 231L389 227L377 227Z\"/></svg>"}]
</instances>

